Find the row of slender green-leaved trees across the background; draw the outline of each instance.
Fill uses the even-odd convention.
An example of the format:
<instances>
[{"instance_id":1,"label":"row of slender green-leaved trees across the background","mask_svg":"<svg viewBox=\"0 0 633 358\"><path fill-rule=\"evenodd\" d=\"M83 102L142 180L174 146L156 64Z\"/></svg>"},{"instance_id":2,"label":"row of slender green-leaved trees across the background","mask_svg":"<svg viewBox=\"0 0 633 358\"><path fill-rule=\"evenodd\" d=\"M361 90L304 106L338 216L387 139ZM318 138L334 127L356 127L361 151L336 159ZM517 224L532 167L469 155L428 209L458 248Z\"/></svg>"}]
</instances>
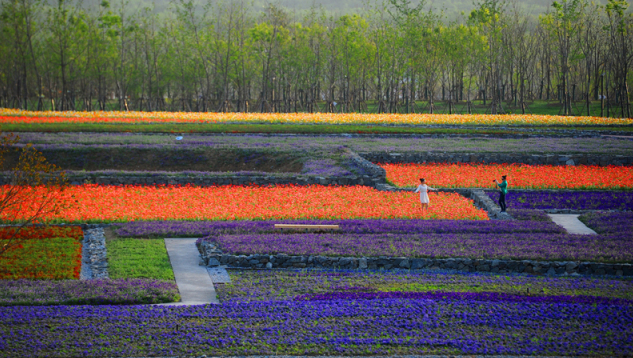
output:
<instances>
[{"instance_id":1,"label":"row of slender green-leaved trees across the background","mask_svg":"<svg viewBox=\"0 0 633 358\"><path fill-rule=\"evenodd\" d=\"M448 21L409 0L339 17L244 1L156 13L1 0L0 107L497 114L555 100L563 115L631 117L628 7L560 0L534 16L480 0Z\"/></svg>"}]
</instances>

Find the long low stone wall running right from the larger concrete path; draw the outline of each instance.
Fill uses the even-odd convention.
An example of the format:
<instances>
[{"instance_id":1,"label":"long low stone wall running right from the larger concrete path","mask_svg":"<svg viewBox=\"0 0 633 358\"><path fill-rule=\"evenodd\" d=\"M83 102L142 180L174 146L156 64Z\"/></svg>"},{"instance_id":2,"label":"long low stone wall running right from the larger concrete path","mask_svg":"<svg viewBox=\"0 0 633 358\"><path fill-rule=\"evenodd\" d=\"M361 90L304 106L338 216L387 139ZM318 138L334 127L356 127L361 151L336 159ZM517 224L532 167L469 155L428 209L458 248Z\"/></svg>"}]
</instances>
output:
<instances>
[{"instance_id":1,"label":"long low stone wall running right from the larger concrete path","mask_svg":"<svg viewBox=\"0 0 633 358\"><path fill-rule=\"evenodd\" d=\"M534 275L612 275L633 276L631 264L562 262L532 260L474 260L462 258L426 259L406 257L327 257L289 255L229 255L211 242L198 247L201 264L239 268L339 268L339 269L444 269L468 272L528 273Z\"/></svg>"}]
</instances>

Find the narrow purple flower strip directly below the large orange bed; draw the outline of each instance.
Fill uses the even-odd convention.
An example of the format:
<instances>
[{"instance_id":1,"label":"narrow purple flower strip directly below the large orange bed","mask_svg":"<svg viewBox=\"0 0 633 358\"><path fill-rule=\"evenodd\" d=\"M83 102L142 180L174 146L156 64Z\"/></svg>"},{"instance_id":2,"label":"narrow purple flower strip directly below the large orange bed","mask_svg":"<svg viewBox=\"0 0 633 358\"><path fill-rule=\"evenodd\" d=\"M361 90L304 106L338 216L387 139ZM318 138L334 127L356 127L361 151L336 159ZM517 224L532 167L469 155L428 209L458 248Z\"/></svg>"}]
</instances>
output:
<instances>
[{"instance_id":1,"label":"narrow purple flower strip directly below the large orange bed","mask_svg":"<svg viewBox=\"0 0 633 358\"><path fill-rule=\"evenodd\" d=\"M339 225L338 234L504 234L549 233L565 230L552 222L483 220L279 220L279 221L132 221L115 224L121 237L200 237L279 232L275 224Z\"/></svg>"}]
</instances>

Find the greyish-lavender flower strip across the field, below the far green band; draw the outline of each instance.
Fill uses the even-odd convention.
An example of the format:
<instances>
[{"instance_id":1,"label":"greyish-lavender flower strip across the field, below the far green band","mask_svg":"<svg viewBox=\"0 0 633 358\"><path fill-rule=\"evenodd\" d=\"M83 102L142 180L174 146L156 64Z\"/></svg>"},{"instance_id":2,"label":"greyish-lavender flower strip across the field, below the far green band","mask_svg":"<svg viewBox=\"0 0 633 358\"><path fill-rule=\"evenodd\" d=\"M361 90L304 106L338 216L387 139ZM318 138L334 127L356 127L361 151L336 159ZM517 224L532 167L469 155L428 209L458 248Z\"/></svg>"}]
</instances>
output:
<instances>
[{"instance_id":1,"label":"greyish-lavender flower strip across the field, below the far green band","mask_svg":"<svg viewBox=\"0 0 633 358\"><path fill-rule=\"evenodd\" d=\"M312 127L312 126L305 126ZM347 146L355 152L449 152L449 153L531 153L531 154L622 154L630 155L633 141L624 138L491 138L491 137L394 137L308 136L308 135L201 135L134 133L20 133L22 143L40 150L75 149L241 149L331 151Z\"/></svg>"}]
</instances>

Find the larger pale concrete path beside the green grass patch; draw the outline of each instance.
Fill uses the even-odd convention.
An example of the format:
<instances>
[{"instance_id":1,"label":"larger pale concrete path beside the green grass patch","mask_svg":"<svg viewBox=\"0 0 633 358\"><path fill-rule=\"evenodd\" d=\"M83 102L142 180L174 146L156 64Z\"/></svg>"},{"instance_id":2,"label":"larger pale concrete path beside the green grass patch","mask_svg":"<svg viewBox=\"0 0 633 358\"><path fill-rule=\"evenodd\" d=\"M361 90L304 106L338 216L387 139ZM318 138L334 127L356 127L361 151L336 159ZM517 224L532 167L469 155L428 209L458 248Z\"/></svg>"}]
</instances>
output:
<instances>
[{"instance_id":1,"label":"larger pale concrete path beside the green grass patch","mask_svg":"<svg viewBox=\"0 0 633 358\"><path fill-rule=\"evenodd\" d=\"M174 270L181 300L163 305L188 306L219 303L207 268L198 265L196 239L165 239L165 247Z\"/></svg>"}]
</instances>

